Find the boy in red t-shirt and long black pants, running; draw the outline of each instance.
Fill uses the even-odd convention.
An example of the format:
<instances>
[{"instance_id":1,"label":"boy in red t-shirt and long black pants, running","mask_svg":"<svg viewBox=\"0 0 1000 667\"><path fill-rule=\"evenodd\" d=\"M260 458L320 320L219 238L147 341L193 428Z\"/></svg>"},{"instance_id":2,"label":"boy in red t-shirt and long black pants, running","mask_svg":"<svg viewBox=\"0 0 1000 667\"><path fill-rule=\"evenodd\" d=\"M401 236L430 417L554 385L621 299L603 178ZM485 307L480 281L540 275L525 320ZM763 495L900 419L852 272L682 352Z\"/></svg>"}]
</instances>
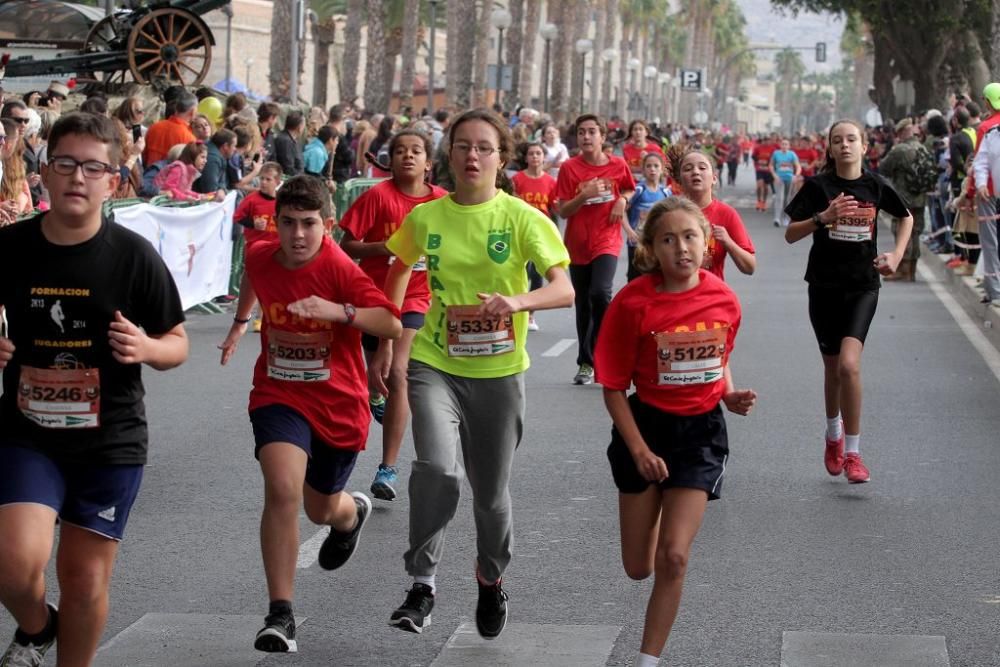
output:
<instances>
[{"instance_id":1,"label":"boy in red t-shirt and long black pants, running","mask_svg":"<svg viewBox=\"0 0 1000 667\"><path fill-rule=\"evenodd\" d=\"M628 228L625 207L635 180L625 160L601 148L607 129L598 116L576 119L580 153L563 163L556 182L559 215L566 218L569 276L576 290L576 335L579 365L574 384L594 381L594 341L611 302L611 284Z\"/></svg>"}]
</instances>

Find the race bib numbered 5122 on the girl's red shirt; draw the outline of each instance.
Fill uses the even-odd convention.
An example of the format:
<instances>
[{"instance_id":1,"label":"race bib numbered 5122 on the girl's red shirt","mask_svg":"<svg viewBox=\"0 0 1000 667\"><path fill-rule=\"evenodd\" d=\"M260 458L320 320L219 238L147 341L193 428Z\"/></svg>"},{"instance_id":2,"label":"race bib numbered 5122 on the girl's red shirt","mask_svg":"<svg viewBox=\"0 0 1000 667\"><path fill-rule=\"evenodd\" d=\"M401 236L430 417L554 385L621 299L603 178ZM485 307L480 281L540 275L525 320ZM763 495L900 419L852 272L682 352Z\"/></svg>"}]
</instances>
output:
<instances>
[{"instance_id":1,"label":"race bib numbered 5122 on the girl's red shirt","mask_svg":"<svg viewBox=\"0 0 1000 667\"><path fill-rule=\"evenodd\" d=\"M658 384L685 386L723 379L728 331L726 325L705 331L654 334Z\"/></svg>"}]
</instances>

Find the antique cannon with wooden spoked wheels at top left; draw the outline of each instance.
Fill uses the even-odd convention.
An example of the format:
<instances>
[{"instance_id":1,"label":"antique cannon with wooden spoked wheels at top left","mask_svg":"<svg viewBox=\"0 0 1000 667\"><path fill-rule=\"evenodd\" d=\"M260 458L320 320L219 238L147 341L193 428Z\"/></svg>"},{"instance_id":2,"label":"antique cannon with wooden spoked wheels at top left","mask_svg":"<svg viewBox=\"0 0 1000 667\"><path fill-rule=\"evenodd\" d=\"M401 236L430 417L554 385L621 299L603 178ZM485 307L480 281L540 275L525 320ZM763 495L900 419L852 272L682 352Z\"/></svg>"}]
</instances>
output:
<instances>
[{"instance_id":1,"label":"antique cannon with wooden spoked wheels at top left","mask_svg":"<svg viewBox=\"0 0 1000 667\"><path fill-rule=\"evenodd\" d=\"M95 23L77 55L16 58L3 77L75 74L81 83L192 86L212 64L215 39L201 18L230 0L133 2Z\"/></svg>"}]
</instances>

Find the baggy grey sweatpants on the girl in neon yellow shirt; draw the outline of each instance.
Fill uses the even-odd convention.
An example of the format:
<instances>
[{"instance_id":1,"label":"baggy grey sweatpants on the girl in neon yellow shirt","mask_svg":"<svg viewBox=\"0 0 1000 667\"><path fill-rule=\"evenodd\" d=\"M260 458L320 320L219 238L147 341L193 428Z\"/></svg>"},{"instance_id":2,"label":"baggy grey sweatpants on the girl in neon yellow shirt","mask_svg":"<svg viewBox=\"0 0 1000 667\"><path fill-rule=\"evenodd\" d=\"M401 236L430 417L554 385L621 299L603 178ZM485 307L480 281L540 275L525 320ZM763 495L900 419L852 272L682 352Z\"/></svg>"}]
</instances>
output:
<instances>
[{"instance_id":1,"label":"baggy grey sweatpants on the girl in neon yellow shirt","mask_svg":"<svg viewBox=\"0 0 1000 667\"><path fill-rule=\"evenodd\" d=\"M417 458L410 471L406 571L434 574L445 529L458 509L464 464L479 572L488 581L499 579L513 542L509 482L524 429L524 374L465 378L411 361L409 397Z\"/></svg>"}]
</instances>

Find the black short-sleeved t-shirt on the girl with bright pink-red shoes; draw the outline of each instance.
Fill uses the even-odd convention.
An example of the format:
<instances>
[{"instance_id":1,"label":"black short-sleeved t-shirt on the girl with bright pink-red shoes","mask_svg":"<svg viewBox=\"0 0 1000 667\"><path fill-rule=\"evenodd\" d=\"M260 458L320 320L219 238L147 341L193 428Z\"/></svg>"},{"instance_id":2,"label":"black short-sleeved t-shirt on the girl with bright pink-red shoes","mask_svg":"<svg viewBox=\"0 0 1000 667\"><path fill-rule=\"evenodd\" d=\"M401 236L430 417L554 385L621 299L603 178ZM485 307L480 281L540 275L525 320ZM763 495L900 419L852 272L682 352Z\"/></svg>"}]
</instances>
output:
<instances>
[{"instance_id":1,"label":"black short-sleeved t-shirt on the girl with bright pink-red shoes","mask_svg":"<svg viewBox=\"0 0 1000 667\"><path fill-rule=\"evenodd\" d=\"M825 211L842 192L857 200L858 212L816 230L805 279L817 287L878 289L881 281L873 264L878 255L878 212L884 210L897 218L909 215L885 179L867 170L854 180L835 173L817 174L805 180L785 213L794 221L808 220Z\"/></svg>"}]
</instances>

